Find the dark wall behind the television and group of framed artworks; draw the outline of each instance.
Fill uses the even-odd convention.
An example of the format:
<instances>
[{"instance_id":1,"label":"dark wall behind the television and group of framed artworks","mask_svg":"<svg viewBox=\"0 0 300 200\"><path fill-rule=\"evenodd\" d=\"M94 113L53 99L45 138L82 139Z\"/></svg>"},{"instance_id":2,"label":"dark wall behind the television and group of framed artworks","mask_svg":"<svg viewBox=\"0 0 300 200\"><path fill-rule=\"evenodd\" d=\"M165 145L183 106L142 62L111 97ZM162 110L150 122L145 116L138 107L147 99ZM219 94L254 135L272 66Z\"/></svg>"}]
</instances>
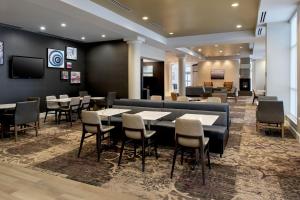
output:
<instances>
[{"instance_id":1,"label":"dark wall behind the television and group of framed artworks","mask_svg":"<svg viewBox=\"0 0 300 200\"><path fill-rule=\"evenodd\" d=\"M81 43L1 26L0 41L4 42L4 65L0 65L0 103L23 101L28 96L39 96L43 99L52 94L76 96L85 88L85 48ZM80 85L71 85L70 81L60 80L61 70L47 67L47 48L65 50L66 46L77 48L78 60L71 62L72 70L81 72ZM9 78L9 60L14 55L44 58L44 77L42 79Z\"/></svg>"}]
</instances>

